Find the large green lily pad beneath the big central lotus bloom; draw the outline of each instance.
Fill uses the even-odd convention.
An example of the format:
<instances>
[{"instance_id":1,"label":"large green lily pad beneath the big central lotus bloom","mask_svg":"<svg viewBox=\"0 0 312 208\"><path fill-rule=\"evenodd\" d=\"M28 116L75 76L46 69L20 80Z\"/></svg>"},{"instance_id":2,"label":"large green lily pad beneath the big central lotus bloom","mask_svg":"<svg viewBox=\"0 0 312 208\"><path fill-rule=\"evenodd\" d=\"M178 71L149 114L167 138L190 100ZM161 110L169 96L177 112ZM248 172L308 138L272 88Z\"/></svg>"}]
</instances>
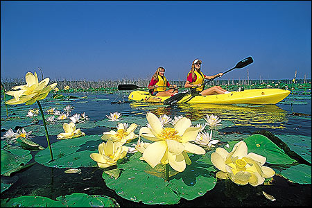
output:
<instances>
[{"instance_id":1,"label":"large green lily pad beneath the big central lotus bloom","mask_svg":"<svg viewBox=\"0 0 312 208\"><path fill-rule=\"evenodd\" d=\"M161 165L151 168L139 157L141 153L135 153L128 157L127 162L117 164L121 175L116 180L103 173L107 187L122 198L148 205L173 205L180 198L193 200L200 197L216 185L209 155L190 156L192 164L182 173L169 171L171 177L168 182L161 177L164 174L156 170Z\"/></svg>"}]
</instances>

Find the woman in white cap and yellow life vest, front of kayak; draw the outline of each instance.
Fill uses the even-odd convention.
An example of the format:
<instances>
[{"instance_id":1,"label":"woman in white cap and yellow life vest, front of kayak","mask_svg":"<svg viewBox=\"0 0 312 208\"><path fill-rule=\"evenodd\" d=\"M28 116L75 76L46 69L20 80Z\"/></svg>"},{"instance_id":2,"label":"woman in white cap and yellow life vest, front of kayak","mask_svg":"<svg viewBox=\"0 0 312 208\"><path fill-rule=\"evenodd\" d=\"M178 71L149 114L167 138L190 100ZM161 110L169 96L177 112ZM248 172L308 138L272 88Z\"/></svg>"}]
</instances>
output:
<instances>
[{"instance_id":1,"label":"woman in white cap and yellow life vest, front of kayak","mask_svg":"<svg viewBox=\"0 0 312 208\"><path fill-rule=\"evenodd\" d=\"M202 85L204 83L205 79L213 79L217 78L219 76L223 76L223 73L220 72L214 76L206 76L200 71L200 64L202 64L202 61L199 59L193 60L191 71L187 74L187 82L185 83L184 87L190 88L190 87L197 87L196 91L199 92L201 95L211 95L211 94L227 94L229 93L227 90L223 89L220 86L214 86L210 87L208 89L204 89L205 85Z\"/></svg>"}]
</instances>

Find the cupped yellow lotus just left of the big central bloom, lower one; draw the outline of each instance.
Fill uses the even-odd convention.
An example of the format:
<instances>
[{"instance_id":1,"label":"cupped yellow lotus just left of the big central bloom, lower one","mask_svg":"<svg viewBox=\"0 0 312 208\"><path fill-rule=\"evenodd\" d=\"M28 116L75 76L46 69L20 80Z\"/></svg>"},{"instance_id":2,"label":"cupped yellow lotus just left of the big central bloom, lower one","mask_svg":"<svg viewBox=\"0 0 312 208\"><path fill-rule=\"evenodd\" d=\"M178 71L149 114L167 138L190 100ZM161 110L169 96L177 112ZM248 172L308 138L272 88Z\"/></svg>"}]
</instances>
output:
<instances>
[{"instance_id":1,"label":"cupped yellow lotus just left of the big central bloom, lower one","mask_svg":"<svg viewBox=\"0 0 312 208\"><path fill-rule=\"evenodd\" d=\"M98 163L98 167L107 168L117 164L117 160L127 155L128 147L111 139L98 145L98 153L91 153L90 157Z\"/></svg>"}]
</instances>

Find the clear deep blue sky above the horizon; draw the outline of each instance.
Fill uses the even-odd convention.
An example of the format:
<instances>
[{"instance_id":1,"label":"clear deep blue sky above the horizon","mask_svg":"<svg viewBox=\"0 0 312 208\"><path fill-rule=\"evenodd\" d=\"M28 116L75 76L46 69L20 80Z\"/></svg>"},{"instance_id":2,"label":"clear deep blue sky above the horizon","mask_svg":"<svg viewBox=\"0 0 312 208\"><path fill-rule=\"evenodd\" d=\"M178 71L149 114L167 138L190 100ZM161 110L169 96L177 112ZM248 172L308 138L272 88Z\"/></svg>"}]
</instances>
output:
<instances>
[{"instance_id":1,"label":"clear deep blue sky above the horizon","mask_svg":"<svg viewBox=\"0 0 312 208\"><path fill-rule=\"evenodd\" d=\"M311 1L1 1L1 80L311 78ZM40 76L41 78L41 76Z\"/></svg>"}]
</instances>

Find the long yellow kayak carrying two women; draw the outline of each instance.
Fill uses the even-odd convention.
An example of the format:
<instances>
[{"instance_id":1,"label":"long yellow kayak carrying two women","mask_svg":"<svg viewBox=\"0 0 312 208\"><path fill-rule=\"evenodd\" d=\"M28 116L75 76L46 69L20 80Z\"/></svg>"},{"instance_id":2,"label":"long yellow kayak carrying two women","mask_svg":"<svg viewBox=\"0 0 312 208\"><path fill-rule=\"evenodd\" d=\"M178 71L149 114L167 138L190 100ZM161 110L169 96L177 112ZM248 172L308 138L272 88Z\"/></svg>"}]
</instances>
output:
<instances>
[{"instance_id":1,"label":"long yellow kayak carrying two women","mask_svg":"<svg viewBox=\"0 0 312 208\"><path fill-rule=\"evenodd\" d=\"M284 100L291 92L286 89L245 89L241 92L229 94L216 94L209 96L184 96L177 103L202 103L202 104L276 104ZM146 91L136 90L130 93L129 100L162 103L170 96L151 96Z\"/></svg>"}]
</instances>

